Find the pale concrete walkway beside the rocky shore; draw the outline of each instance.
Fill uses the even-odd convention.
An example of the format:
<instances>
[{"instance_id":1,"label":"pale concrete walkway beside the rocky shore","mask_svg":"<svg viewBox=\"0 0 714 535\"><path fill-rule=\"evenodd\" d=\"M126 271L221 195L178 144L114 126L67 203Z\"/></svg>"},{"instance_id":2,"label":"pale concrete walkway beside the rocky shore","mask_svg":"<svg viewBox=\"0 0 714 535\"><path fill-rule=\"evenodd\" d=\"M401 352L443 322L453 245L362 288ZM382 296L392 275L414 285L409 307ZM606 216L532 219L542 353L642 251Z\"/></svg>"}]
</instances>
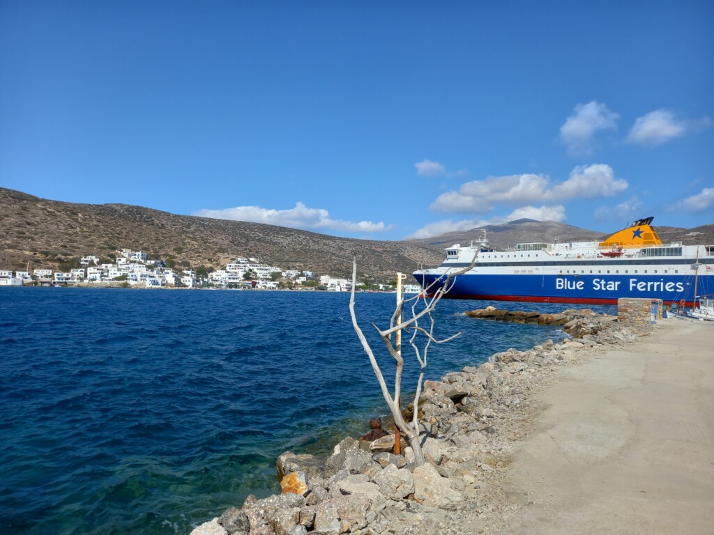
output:
<instances>
[{"instance_id":1,"label":"pale concrete walkway beside the rocky shore","mask_svg":"<svg viewBox=\"0 0 714 535\"><path fill-rule=\"evenodd\" d=\"M714 534L714 322L664 320L565 372L521 443L503 533Z\"/></svg>"}]
</instances>

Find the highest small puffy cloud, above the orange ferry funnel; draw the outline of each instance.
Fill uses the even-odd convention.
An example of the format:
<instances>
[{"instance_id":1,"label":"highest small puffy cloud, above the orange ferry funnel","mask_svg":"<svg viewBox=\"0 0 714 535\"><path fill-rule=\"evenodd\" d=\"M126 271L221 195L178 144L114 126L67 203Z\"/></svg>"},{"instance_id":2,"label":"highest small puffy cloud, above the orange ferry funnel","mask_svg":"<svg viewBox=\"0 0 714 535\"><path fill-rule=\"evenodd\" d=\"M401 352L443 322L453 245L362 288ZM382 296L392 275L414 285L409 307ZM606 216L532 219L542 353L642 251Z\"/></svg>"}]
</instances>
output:
<instances>
[{"instance_id":1,"label":"highest small puffy cloud, above the orange ferry funnel","mask_svg":"<svg viewBox=\"0 0 714 535\"><path fill-rule=\"evenodd\" d=\"M619 117L600 102L578 104L573 114L560 127L560 139L571 155L588 155L593 151L595 133L602 130L617 130Z\"/></svg>"}]
</instances>

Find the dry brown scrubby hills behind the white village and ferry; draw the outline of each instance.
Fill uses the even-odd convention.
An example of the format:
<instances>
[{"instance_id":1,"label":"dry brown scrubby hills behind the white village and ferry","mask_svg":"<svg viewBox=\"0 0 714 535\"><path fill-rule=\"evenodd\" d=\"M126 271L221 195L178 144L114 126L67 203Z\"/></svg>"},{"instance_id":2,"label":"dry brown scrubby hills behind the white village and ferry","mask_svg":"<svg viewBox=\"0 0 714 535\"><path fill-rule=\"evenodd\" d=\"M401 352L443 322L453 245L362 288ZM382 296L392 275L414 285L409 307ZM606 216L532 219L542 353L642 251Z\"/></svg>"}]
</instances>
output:
<instances>
[{"instance_id":1,"label":"dry brown scrubby hills behind the white village and ferry","mask_svg":"<svg viewBox=\"0 0 714 535\"><path fill-rule=\"evenodd\" d=\"M144 250L151 258L172 258L178 267L225 267L238 256L254 257L283 269L393 280L396 272L436 266L444 248L478 241L486 230L497 249L516 243L599 240L605 234L555 221L521 219L446 233L435 238L401 241L338 238L306 230L244 221L176 215L124 204L91 205L47 200L0 188L0 269L52 267L82 255L109 258L121 248ZM620 225L619 228L622 228ZM611 232L619 230L612 228ZM665 243L714 245L714 224L698 228L655 227Z\"/></svg>"}]
</instances>

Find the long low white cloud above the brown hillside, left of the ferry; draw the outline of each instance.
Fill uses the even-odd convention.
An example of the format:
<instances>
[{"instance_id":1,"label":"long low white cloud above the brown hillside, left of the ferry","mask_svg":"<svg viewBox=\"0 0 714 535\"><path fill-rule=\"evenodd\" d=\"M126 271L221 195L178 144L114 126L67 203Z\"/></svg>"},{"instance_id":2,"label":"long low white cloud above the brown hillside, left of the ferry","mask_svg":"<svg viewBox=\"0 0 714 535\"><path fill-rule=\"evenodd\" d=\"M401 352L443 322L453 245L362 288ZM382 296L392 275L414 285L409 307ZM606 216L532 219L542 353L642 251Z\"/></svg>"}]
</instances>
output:
<instances>
[{"instance_id":1,"label":"long low white cloud above the brown hillside, left of the ferry","mask_svg":"<svg viewBox=\"0 0 714 535\"><path fill-rule=\"evenodd\" d=\"M290 208L289 210L273 210L271 208L261 208L260 206L236 206L236 208L225 208L223 210L198 210L193 215L199 215L203 218L266 223L267 225L303 230L331 229L376 233L392 228L391 225L385 225L381 221L379 223L372 223L371 221L352 223L351 221L331 219L330 214L324 208L308 208L303 203L296 203L295 208Z\"/></svg>"}]
</instances>

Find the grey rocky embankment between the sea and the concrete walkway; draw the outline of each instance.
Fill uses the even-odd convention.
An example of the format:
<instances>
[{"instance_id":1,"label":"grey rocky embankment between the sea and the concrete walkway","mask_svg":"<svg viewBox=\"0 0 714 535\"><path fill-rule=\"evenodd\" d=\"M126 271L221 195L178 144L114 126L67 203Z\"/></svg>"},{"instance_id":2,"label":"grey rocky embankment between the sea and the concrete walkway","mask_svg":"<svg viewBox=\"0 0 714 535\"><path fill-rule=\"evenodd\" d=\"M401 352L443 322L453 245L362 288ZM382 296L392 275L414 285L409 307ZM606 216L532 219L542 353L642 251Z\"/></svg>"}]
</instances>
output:
<instances>
[{"instance_id":1,"label":"grey rocky embankment between the sea and the concrete walkway","mask_svg":"<svg viewBox=\"0 0 714 535\"><path fill-rule=\"evenodd\" d=\"M580 314L580 313L578 313ZM526 498L504 484L513 442L540 411L531 403L558 365L583 349L635 340L650 325L618 325L612 317L568 317L578 341L551 340L531 350L496 353L441 381L426 381L423 452L372 454L343 439L325 462L283 453L283 494L255 499L198 526L191 535L464 534L497 529Z\"/></svg>"}]
</instances>

